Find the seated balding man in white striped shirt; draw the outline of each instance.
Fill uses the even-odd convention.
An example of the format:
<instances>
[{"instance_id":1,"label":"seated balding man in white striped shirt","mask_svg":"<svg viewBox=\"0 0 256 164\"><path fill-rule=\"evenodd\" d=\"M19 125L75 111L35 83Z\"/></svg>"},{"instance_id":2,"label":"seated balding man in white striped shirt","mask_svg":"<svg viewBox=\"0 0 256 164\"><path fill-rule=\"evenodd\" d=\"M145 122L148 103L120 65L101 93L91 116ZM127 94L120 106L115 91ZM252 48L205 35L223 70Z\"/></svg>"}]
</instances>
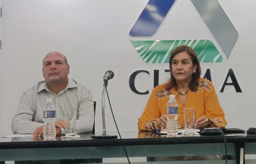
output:
<instances>
[{"instance_id":1,"label":"seated balding man in white striped shirt","mask_svg":"<svg viewBox=\"0 0 256 164\"><path fill-rule=\"evenodd\" d=\"M12 118L14 134L44 133L43 110L46 99L52 98L56 107L56 135L65 134L65 114L77 112L76 133L91 132L94 123L92 94L84 86L69 79L67 58L60 52L49 52L43 60L43 77L36 86L21 96L17 112Z\"/></svg>"}]
</instances>

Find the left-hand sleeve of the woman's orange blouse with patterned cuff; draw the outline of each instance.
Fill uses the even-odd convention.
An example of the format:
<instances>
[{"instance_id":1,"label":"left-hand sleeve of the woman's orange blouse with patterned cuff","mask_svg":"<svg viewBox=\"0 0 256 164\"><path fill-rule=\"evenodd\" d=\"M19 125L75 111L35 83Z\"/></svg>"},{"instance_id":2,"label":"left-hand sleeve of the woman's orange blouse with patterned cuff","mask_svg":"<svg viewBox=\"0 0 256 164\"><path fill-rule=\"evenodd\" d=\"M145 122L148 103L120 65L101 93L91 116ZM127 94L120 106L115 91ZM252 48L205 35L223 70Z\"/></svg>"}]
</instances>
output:
<instances>
[{"instance_id":1,"label":"left-hand sleeve of the woman's orange blouse with patterned cuff","mask_svg":"<svg viewBox=\"0 0 256 164\"><path fill-rule=\"evenodd\" d=\"M160 109L158 107L158 100L156 96L156 92L153 89L150 98L147 102L147 105L143 111L143 114L139 118L138 128L139 131L150 131L152 129L159 130L160 128L157 126L158 120L160 117Z\"/></svg>"}]
</instances>

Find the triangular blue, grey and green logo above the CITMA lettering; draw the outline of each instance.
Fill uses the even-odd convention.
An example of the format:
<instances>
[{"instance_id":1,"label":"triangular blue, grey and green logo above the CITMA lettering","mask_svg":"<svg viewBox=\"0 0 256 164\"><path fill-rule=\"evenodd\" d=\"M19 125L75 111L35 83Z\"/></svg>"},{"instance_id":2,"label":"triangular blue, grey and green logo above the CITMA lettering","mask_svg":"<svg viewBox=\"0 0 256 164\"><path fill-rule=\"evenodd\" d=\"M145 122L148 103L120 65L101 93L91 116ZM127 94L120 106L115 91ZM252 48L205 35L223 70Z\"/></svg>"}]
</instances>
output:
<instances>
[{"instance_id":1,"label":"triangular blue, grey and green logo above the CITMA lettering","mask_svg":"<svg viewBox=\"0 0 256 164\"><path fill-rule=\"evenodd\" d=\"M132 37L154 35L177 0L149 0L130 30ZM203 21L210 29L219 46L228 58L238 39L238 32L222 9L218 0L191 0ZM210 8L211 9L210 9ZM207 9L206 9L207 8ZM211 12L209 12L211 11ZM221 25L221 28L219 26ZM192 47L200 62L222 62L223 57L214 43L205 39L187 40L143 40L133 41L139 56L146 63L168 63L172 51L180 45Z\"/></svg>"}]
</instances>

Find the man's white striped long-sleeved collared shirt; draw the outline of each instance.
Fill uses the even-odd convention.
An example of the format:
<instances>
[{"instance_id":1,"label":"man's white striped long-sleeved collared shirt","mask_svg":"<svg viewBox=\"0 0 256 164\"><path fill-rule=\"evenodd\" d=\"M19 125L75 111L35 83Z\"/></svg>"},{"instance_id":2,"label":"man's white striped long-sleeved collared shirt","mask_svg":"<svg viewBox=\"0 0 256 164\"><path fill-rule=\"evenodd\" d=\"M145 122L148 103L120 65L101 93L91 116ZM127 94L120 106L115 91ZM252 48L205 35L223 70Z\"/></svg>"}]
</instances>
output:
<instances>
[{"instance_id":1,"label":"man's white striped long-sleeved collared shirt","mask_svg":"<svg viewBox=\"0 0 256 164\"><path fill-rule=\"evenodd\" d=\"M21 96L15 116L12 118L14 134L32 134L38 127L44 125L43 111L46 99L52 98L56 107L56 121L65 120L65 114L71 115L76 110L75 132L91 132L94 123L92 94L84 86L69 79L64 90L57 95L40 81ZM64 134L61 128L61 134Z\"/></svg>"}]
</instances>

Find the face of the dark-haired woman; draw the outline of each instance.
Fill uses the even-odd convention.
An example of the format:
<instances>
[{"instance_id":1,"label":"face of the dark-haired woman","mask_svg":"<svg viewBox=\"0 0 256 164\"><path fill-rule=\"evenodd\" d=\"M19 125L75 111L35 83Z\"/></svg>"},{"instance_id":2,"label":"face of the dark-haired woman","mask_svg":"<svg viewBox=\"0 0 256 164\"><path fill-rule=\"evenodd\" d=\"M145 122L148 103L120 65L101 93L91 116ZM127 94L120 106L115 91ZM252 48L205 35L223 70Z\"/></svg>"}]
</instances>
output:
<instances>
[{"instance_id":1,"label":"face of the dark-haired woman","mask_svg":"<svg viewBox=\"0 0 256 164\"><path fill-rule=\"evenodd\" d=\"M183 51L175 55L172 61L172 73L176 82L190 83L192 74L196 71L196 64L193 65L191 57Z\"/></svg>"}]
</instances>

